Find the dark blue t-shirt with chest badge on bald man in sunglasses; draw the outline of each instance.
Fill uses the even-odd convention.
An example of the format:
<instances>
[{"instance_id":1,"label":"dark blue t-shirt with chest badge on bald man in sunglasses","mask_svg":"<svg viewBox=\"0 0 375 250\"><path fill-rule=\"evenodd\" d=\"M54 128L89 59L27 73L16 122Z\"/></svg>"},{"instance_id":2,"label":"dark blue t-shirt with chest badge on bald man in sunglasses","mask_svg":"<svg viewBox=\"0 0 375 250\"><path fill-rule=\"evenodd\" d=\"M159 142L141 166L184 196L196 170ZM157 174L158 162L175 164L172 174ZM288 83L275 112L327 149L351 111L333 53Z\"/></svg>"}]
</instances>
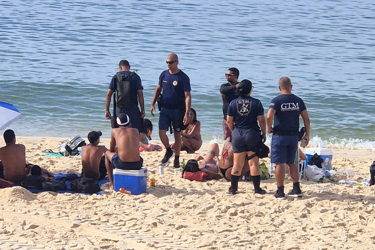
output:
<instances>
[{"instance_id":1,"label":"dark blue t-shirt with chest badge on bald man in sunglasses","mask_svg":"<svg viewBox=\"0 0 375 250\"><path fill-rule=\"evenodd\" d=\"M162 101L167 108L180 108L185 103L185 92L191 90L190 79L182 70L173 75L168 69L164 70L160 74L159 85L163 87Z\"/></svg>"}]
</instances>

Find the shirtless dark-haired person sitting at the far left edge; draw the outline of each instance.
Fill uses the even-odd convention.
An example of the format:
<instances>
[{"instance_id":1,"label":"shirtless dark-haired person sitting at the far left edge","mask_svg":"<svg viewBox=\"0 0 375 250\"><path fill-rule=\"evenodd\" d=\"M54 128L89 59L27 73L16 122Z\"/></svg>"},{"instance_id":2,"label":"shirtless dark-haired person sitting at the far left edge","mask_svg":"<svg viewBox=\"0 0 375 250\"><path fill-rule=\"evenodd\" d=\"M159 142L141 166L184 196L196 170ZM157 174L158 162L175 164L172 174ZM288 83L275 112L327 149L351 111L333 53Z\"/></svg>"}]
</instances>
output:
<instances>
[{"instance_id":1,"label":"shirtless dark-haired person sitting at the far left edge","mask_svg":"<svg viewBox=\"0 0 375 250\"><path fill-rule=\"evenodd\" d=\"M26 178L25 146L16 144L16 135L11 129L5 130L4 141L6 146L0 148L0 160L3 172L0 169L0 178L20 185Z\"/></svg>"}]
</instances>

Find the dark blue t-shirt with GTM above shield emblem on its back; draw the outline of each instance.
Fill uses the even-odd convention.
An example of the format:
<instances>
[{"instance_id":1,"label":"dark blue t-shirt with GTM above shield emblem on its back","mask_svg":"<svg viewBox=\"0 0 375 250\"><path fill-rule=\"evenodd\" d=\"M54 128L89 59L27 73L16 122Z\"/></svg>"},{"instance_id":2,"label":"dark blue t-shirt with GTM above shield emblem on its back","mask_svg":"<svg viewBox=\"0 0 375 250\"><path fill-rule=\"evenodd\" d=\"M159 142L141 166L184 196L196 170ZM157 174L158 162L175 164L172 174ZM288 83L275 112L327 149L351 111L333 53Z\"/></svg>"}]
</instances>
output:
<instances>
[{"instance_id":1,"label":"dark blue t-shirt with GTM above shield emblem on its back","mask_svg":"<svg viewBox=\"0 0 375 250\"><path fill-rule=\"evenodd\" d=\"M236 127L260 130L258 115L264 115L262 103L250 96L238 97L230 102L227 114L233 116Z\"/></svg>"}]
</instances>

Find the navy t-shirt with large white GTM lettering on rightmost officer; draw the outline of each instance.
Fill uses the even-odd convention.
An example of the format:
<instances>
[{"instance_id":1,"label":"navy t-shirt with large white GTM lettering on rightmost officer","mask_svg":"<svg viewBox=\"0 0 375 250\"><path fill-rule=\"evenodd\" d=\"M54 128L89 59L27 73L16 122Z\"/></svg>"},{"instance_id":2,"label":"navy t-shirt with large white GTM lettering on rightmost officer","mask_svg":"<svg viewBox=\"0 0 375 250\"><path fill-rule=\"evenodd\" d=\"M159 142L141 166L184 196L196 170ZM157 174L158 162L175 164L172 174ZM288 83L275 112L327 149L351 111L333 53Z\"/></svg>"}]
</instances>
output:
<instances>
[{"instance_id":1,"label":"navy t-shirt with large white GTM lettering on rightmost officer","mask_svg":"<svg viewBox=\"0 0 375 250\"><path fill-rule=\"evenodd\" d=\"M299 130L299 115L306 109L305 103L296 95L279 95L272 99L270 108L276 110L273 130Z\"/></svg>"}]
</instances>

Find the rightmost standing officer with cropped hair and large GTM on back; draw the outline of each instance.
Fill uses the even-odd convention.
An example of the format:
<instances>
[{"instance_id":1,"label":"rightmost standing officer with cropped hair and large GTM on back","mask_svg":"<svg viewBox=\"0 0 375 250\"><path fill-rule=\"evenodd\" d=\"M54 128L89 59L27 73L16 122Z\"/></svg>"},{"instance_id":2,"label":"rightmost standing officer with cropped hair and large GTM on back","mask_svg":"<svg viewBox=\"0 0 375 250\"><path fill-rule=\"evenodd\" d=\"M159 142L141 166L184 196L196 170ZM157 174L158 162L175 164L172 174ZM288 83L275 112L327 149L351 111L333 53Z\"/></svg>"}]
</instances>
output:
<instances>
[{"instance_id":1,"label":"rightmost standing officer with cropped hair and large GTM on back","mask_svg":"<svg viewBox=\"0 0 375 250\"><path fill-rule=\"evenodd\" d=\"M267 112L267 131L272 133L271 163L276 164L275 175L277 191L275 197L286 199L284 193L285 164L293 181L293 189L288 193L291 197L302 197L298 182L298 166L294 164L299 140L299 116L302 116L306 127L303 139L309 142L310 119L306 106L301 98L292 94L292 82L288 77L279 80L281 95L272 99ZM273 127L272 127L273 122Z\"/></svg>"}]
</instances>

